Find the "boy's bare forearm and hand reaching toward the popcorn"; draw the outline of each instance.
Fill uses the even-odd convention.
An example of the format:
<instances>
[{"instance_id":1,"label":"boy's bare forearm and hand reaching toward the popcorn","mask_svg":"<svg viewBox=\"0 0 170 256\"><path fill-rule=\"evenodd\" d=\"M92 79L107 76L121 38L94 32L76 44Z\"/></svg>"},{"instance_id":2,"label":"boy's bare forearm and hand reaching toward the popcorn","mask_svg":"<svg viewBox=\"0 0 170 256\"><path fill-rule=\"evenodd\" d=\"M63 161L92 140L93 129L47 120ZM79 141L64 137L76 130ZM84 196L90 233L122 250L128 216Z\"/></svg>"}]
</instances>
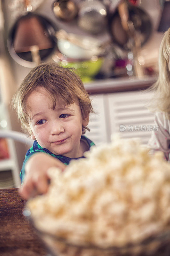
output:
<instances>
[{"instance_id":1,"label":"boy's bare forearm and hand reaching toward the popcorn","mask_svg":"<svg viewBox=\"0 0 170 256\"><path fill-rule=\"evenodd\" d=\"M26 177L22 187L19 189L24 199L44 194L48 191L50 177L47 170L50 167L58 167L63 171L66 165L60 160L45 153L37 152L31 156L25 165Z\"/></svg>"}]
</instances>

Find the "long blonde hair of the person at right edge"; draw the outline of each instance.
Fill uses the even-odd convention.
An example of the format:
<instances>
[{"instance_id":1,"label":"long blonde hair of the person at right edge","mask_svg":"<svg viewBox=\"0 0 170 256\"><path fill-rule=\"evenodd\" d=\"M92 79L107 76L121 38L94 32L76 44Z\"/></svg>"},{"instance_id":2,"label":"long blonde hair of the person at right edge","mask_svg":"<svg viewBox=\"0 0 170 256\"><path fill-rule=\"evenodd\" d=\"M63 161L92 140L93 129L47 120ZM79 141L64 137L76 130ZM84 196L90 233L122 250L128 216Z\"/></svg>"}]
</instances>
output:
<instances>
[{"instance_id":1,"label":"long blonde hair of the person at right edge","mask_svg":"<svg viewBox=\"0 0 170 256\"><path fill-rule=\"evenodd\" d=\"M155 84L147 91L153 92L148 104L151 111L163 111L170 119L170 28L165 32L159 48L159 76Z\"/></svg>"}]
</instances>

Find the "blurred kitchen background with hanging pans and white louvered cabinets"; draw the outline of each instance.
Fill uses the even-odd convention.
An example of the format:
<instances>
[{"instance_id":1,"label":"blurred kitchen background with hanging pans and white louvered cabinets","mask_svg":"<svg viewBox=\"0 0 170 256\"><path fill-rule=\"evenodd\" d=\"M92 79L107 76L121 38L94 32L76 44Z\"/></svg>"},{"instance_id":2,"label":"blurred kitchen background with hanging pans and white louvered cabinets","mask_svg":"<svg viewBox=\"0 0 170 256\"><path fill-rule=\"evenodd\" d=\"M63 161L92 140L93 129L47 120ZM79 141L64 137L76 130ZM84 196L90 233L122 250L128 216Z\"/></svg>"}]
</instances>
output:
<instances>
[{"instance_id":1,"label":"blurred kitchen background with hanging pans and white louvered cabinets","mask_svg":"<svg viewBox=\"0 0 170 256\"><path fill-rule=\"evenodd\" d=\"M158 51L170 26L165 0L1 0L0 188L20 186L29 139L11 98L40 62L76 68L96 114L87 136L96 145L115 132L147 144L154 127L144 89L158 75ZM12 131L12 132L11 132Z\"/></svg>"}]
</instances>

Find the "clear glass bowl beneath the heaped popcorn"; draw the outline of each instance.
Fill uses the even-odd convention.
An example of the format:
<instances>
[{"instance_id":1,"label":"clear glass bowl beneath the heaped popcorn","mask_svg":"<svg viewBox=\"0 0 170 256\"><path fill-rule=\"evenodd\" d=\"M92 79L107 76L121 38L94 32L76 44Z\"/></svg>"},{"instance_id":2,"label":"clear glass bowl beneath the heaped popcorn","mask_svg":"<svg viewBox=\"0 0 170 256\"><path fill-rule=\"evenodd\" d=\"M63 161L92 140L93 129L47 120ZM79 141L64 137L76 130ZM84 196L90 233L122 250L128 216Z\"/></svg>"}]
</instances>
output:
<instances>
[{"instance_id":1,"label":"clear glass bowl beneath the heaped popcorn","mask_svg":"<svg viewBox=\"0 0 170 256\"><path fill-rule=\"evenodd\" d=\"M66 239L36 228L29 209L24 209L24 216L30 221L37 234L53 256L169 256L170 228L148 237L140 243L127 244L122 247L99 247L93 244L79 245L69 243ZM132 230L133 232L133 230Z\"/></svg>"}]
</instances>

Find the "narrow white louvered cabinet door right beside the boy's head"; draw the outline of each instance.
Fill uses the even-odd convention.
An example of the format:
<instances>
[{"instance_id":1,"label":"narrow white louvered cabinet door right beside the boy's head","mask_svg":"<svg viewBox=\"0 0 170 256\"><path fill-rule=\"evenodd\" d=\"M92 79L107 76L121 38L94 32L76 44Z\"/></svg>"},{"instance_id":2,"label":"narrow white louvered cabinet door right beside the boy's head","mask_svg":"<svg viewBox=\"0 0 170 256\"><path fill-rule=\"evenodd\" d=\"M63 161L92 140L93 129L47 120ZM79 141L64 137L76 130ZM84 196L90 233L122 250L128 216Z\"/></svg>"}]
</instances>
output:
<instances>
[{"instance_id":1,"label":"narrow white louvered cabinet door right beside the boy's head","mask_svg":"<svg viewBox=\"0 0 170 256\"><path fill-rule=\"evenodd\" d=\"M92 107L95 114L90 115L90 120L88 127L90 132L86 132L90 140L92 140L95 145L100 145L101 143L107 142L107 129L106 129L106 115L105 115L105 100L106 95L97 94L90 96L92 99Z\"/></svg>"}]
</instances>

